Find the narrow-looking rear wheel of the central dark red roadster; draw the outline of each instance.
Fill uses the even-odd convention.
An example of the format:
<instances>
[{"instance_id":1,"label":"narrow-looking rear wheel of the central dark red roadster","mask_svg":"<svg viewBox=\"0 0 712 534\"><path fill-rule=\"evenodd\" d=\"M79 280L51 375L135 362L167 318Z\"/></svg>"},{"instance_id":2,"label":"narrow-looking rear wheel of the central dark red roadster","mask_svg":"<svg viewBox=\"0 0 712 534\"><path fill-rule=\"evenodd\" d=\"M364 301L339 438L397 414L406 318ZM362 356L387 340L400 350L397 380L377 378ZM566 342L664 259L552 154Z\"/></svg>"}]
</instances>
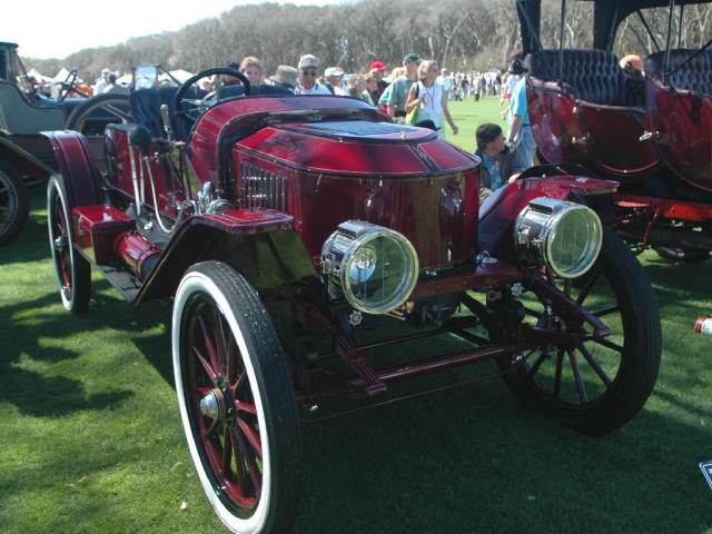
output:
<instances>
[{"instance_id":1,"label":"narrow-looking rear wheel of the central dark red roadster","mask_svg":"<svg viewBox=\"0 0 712 534\"><path fill-rule=\"evenodd\" d=\"M75 248L70 208L59 175L52 175L47 186L47 226L62 305L75 314L86 312L91 295L91 266Z\"/></svg>"}]
</instances>

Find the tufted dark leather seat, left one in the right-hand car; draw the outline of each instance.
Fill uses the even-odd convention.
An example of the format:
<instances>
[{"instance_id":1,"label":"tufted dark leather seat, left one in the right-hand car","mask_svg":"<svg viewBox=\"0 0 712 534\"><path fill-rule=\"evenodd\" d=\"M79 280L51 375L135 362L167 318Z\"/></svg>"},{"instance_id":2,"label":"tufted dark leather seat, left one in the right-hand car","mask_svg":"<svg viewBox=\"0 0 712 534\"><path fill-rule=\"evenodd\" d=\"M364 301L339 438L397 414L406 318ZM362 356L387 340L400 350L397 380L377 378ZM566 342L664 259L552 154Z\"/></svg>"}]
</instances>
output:
<instances>
[{"instance_id":1,"label":"tufted dark leather seat, left one in the right-hand car","mask_svg":"<svg viewBox=\"0 0 712 534\"><path fill-rule=\"evenodd\" d=\"M525 59L530 75L540 81L558 80L560 50L540 50ZM563 79L576 98L606 106L630 106L625 72L613 52L603 50L563 50Z\"/></svg>"}]
</instances>

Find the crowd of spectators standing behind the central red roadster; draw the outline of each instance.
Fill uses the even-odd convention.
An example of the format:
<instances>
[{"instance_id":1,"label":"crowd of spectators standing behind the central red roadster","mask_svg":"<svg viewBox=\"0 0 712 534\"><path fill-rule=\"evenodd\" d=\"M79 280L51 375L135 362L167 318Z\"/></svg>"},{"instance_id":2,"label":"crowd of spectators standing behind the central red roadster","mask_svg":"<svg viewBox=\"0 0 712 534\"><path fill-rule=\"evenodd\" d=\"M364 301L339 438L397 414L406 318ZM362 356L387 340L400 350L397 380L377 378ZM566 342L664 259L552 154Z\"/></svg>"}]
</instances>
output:
<instances>
[{"instance_id":1,"label":"crowd of spectators standing behind the central red roadster","mask_svg":"<svg viewBox=\"0 0 712 534\"><path fill-rule=\"evenodd\" d=\"M310 53L299 58L296 67L280 65L271 76L266 76L258 58L246 57L228 68L241 72L250 85L279 86L295 95L335 95L363 99L388 113L395 122L429 128L445 138L445 122L454 135L459 131L449 113L447 102L457 100L479 101L486 97L500 99L502 117L508 117L506 135L494 123L481 125L475 134L475 155L482 159L481 199L533 164L535 144L526 112L525 70L515 60L507 72L449 72L435 60L424 60L417 53L407 53L402 65L388 67L374 61L364 73L346 75L340 67L326 67ZM388 72L388 73L387 73ZM206 91L218 86L239 83L236 77L205 78L198 82ZM93 93L101 95L116 87L116 75L103 69L93 86Z\"/></svg>"}]
</instances>

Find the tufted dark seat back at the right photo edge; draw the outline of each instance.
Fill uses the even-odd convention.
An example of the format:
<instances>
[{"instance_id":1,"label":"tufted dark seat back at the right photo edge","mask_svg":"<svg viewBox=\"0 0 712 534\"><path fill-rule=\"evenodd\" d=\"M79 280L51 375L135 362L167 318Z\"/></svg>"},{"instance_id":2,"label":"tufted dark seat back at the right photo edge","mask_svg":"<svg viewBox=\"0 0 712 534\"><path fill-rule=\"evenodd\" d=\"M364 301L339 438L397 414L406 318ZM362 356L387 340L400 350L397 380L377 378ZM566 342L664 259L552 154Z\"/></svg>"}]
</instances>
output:
<instances>
[{"instance_id":1,"label":"tufted dark seat back at the right photo edge","mask_svg":"<svg viewBox=\"0 0 712 534\"><path fill-rule=\"evenodd\" d=\"M696 50L680 48L670 51L670 70L675 70ZM645 76L661 80L665 52L655 52L645 59ZM669 83L676 89L712 96L712 50L702 50L692 61L673 72Z\"/></svg>"}]
</instances>

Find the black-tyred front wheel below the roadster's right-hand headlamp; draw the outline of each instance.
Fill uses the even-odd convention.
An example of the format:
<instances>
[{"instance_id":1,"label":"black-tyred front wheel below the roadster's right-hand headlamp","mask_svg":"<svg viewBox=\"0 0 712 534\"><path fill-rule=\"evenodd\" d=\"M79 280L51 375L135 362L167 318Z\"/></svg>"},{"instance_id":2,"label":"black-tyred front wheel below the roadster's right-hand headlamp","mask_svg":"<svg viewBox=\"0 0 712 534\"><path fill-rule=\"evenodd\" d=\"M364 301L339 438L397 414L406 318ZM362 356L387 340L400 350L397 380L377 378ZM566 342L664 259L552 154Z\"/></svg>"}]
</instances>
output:
<instances>
[{"instance_id":1,"label":"black-tyred front wheel below the roadster's right-hand headlamp","mask_svg":"<svg viewBox=\"0 0 712 534\"><path fill-rule=\"evenodd\" d=\"M609 229L589 273L575 280L548 280L602 319L611 335L524 354L524 362L504 375L505 383L524 404L584 434L606 434L643 407L657 377L661 327L650 281L629 247ZM523 300L524 320L533 326L554 333L590 330L545 298ZM503 370L511 365L500 362Z\"/></svg>"}]
</instances>

